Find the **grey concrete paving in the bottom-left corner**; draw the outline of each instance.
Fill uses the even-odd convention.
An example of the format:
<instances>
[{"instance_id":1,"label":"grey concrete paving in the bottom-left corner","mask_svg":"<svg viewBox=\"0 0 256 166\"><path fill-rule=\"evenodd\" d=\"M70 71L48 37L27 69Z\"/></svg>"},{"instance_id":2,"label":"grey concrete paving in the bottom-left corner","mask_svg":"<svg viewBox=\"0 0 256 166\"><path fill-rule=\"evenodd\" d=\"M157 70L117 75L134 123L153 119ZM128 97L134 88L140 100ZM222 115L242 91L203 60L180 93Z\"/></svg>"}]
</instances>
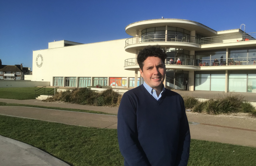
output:
<instances>
[{"instance_id":1,"label":"grey concrete paving in the bottom-left corner","mask_svg":"<svg viewBox=\"0 0 256 166\"><path fill-rule=\"evenodd\" d=\"M23 142L0 135L1 166L70 166Z\"/></svg>"}]
</instances>

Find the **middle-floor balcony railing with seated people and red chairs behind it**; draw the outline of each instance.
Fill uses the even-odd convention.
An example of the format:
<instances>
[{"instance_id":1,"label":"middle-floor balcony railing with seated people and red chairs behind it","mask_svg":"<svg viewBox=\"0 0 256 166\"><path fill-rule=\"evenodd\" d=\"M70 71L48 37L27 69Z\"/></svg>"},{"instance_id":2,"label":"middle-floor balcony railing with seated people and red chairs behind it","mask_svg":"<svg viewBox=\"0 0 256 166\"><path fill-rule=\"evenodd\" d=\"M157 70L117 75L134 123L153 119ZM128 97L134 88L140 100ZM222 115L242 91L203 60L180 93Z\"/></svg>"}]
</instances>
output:
<instances>
[{"instance_id":1,"label":"middle-floor balcony railing with seated people and red chairs behind it","mask_svg":"<svg viewBox=\"0 0 256 166\"><path fill-rule=\"evenodd\" d=\"M172 59L172 61L170 61ZM180 60L178 60L180 59ZM125 66L138 65L137 58L125 60ZM223 65L256 65L256 57L239 57L223 59L192 59L167 57L165 65L188 65L188 66L223 66Z\"/></svg>"}]
</instances>

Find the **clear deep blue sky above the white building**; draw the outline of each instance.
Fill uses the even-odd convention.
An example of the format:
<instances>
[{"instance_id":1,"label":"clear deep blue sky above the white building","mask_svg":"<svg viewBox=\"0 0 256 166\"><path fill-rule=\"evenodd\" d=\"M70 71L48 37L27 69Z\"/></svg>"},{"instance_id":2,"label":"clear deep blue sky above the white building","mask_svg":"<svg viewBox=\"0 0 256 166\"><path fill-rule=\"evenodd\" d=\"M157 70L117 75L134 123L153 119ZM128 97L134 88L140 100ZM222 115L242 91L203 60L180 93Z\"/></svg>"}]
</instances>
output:
<instances>
[{"instance_id":1,"label":"clear deep blue sky above the white building","mask_svg":"<svg viewBox=\"0 0 256 166\"><path fill-rule=\"evenodd\" d=\"M245 24L247 33L256 32L255 7L256 0L0 0L0 59L3 65L32 67L32 50L47 49L48 42L129 38L128 24L162 16L216 31Z\"/></svg>"}]
</instances>

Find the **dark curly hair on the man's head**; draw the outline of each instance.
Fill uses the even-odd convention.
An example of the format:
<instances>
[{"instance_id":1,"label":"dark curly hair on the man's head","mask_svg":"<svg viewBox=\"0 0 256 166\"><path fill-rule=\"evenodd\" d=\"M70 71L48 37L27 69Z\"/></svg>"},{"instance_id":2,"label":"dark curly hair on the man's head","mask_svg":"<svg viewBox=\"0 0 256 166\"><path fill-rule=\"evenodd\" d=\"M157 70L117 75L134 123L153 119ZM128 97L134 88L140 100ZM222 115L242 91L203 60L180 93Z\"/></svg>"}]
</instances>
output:
<instances>
[{"instance_id":1,"label":"dark curly hair on the man's head","mask_svg":"<svg viewBox=\"0 0 256 166\"><path fill-rule=\"evenodd\" d=\"M138 53L137 62L139 64L140 69L143 71L144 61L147 57L159 57L164 64L165 59L167 58L167 54L163 48L159 45L151 46L148 45L146 48L142 49Z\"/></svg>"}]
</instances>

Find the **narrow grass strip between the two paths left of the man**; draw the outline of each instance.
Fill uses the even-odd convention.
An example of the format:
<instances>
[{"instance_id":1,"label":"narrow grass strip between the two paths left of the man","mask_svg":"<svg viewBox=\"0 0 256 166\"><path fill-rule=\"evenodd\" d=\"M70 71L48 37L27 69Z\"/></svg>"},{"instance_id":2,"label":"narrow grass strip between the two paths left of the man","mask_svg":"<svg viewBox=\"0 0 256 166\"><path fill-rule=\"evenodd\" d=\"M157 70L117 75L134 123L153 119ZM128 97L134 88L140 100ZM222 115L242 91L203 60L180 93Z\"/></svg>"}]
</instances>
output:
<instances>
[{"instance_id":1,"label":"narrow grass strip between the two paths left of the man","mask_svg":"<svg viewBox=\"0 0 256 166\"><path fill-rule=\"evenodd\" d=\"M15 103L4 103L0 102L0 106L21 106L21 107L35 107L35 108L44 108L44 109L58 109L64 111L75 111L75 112L83 112L83 113L97 113L97 114L105 114L105 115L116 115L112 113L103 113L100 111L91 111L91 110L84 110L84 109L70 109L70 108L60 108L60 107L47 107L41 105L27 105L27 104L15 104Z\"/></svg>"}]
</instances>

